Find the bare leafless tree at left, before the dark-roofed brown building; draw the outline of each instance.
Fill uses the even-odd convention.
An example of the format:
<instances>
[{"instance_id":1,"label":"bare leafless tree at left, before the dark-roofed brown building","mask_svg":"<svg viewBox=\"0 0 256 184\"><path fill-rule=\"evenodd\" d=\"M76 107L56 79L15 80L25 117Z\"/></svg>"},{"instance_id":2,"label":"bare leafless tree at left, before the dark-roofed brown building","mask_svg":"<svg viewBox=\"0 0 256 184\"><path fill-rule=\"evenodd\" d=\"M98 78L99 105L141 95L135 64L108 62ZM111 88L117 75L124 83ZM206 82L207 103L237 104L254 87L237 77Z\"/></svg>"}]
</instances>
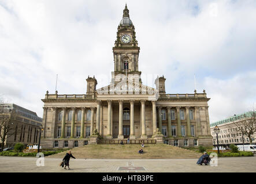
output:
<instances>
[{"instance_id":1,"label":"bare leafless tree at left, before the dark-roofed brown building","mask_svg":"<svg viewBox=\"0 0 256 184\"><path fill-rule=\"evenodd\" d=\"M16 112L12 109L6 109L4 103L0 100L0 143L1 151L5 146L5 141L15 132Z\"/></svg>"}]
</instances>

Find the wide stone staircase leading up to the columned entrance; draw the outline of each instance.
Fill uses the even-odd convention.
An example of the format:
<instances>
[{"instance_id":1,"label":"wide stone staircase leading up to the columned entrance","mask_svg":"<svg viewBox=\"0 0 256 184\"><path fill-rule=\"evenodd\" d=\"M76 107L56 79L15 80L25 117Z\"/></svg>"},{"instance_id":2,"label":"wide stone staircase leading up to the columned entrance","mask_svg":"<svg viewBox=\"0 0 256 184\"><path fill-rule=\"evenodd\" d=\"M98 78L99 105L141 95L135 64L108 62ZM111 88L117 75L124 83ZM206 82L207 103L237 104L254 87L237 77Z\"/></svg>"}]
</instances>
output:
<instances>
[{"instance_id":1,"label":"wide stone staircase leading up to the columned entrance","mask_svg":"<svg viewBox=\"0 0 256 184\"><path fill-rule=\"evenodd\" d=\"M81 159L188 159L199 158L202 154L167 144L147 144L140 155L139 144L110 145L91 144L71 149L72 155ZM63 158L66 152L47 156Z\"/></svg>"}]
</instances>

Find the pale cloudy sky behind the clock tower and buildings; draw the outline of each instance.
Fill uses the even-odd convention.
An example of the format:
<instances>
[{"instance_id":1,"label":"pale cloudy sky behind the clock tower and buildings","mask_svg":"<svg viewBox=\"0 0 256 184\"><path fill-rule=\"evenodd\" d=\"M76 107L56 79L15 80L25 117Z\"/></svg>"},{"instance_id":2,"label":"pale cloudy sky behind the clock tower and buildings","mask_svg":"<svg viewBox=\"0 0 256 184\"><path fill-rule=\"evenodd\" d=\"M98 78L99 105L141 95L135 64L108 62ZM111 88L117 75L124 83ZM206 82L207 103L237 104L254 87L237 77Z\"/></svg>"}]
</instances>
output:
<instances>
[{"instance_id":1,"label":"pale cloudy sky behind the clock tower and buildings","mask_svg":"<svg viewBox=\"0 0 256 184\"><path fill-rule=\"evenodd\" d=\"M195 74L211 98L210 122L255 106L256 1L246 0L0 0L2 98L42 117L56 74L58 94L85 94L88 75L97 89L109 85L125 2L142 80L164 75L166 93L194 93Z\"/></svg>"}]
</instances>

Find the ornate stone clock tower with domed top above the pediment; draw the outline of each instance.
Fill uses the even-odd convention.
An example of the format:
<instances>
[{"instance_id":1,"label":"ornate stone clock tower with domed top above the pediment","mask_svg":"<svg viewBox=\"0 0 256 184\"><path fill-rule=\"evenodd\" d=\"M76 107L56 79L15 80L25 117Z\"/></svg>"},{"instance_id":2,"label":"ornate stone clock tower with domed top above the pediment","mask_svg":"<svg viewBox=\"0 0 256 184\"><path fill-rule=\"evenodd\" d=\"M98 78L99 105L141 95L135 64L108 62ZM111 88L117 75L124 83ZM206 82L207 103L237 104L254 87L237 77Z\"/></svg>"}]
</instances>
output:
<instances>
[{"instance_id":1,"label":"ornate stone clock tower with domed top above the pediment","mask_svg":"<svg viewBox=\"0 0 256 184\"><path fill-rule=\"evenodd\" d=\"M112 83L120 82L120 76L133 76L140 81L138 41L135 36L135 28L129 18L129 10L125 4L123 19L117 28L117 39L113 47L114 71Z\"/></svg>"}]
</instances>

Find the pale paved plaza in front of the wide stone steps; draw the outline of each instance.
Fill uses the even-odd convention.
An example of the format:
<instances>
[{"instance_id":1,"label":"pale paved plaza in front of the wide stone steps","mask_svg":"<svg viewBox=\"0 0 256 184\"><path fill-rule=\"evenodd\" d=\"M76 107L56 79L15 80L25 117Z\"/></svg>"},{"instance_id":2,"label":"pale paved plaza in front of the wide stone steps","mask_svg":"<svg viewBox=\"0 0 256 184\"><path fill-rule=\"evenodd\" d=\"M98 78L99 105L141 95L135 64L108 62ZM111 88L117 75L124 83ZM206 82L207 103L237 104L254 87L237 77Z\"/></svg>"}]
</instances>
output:
<instances>
[{"instance_id":1,"label":"pale paved plaza in front of the wide stone steps","mask_svg":"<svg viewBox=\"0 0 256 184\"><path fill-rule=\"evenodd\" d=\"M256 157L219 158L218 166L198 166L197 159L71 159L71 170L60 167L60 158L44 158L44 166L36 166L38 158L0 156L0 172L24 173L169 173L256 172Z\"/></svg>"}]
</instances>

